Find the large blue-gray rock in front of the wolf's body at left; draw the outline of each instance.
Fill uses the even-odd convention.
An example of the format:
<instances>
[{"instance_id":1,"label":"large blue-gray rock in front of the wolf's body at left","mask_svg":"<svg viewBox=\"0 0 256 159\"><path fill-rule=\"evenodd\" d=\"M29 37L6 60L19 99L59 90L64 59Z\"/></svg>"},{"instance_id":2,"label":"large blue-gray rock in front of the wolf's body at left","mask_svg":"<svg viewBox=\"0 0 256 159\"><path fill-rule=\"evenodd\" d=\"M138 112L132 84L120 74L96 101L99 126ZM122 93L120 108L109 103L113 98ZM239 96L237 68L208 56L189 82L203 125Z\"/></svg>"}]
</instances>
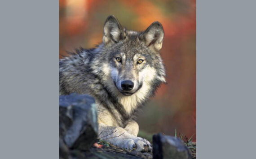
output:
<instances>
[{"instance_id":1,"label":"large blue-gray rock in front of the wolf's body at left","mask_svg":"<svg viewBox=\"0 0 256 159\"><path fill-rule=\"evenodd\" d=\"M60 95L59 99L60 152L66 148L88 150L96 142L98 125L97 109L89 95ZM61 149L62 148L62 149Z\"/></svg>"}]
</instances>

